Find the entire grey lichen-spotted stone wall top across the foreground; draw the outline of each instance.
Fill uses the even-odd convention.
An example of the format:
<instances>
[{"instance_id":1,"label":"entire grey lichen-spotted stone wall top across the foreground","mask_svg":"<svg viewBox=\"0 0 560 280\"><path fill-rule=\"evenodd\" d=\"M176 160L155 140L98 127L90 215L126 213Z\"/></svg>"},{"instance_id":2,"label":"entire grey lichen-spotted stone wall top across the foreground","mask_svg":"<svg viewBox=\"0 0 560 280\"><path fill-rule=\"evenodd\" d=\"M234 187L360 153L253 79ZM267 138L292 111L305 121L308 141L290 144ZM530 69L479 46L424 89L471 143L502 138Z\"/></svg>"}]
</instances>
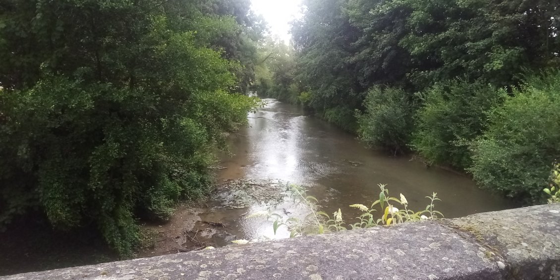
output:
<instances>
[{"instance_id":1,"label":"entire grey lichen-spotted stone wall top across the foreground","mask_svg":"<svg viewBox=\"0 0 560 280\"><path fill-rule=\"evenodd\" d=\"M560 204L1 279L560 279Z\"/></svg>"}]
</instances>

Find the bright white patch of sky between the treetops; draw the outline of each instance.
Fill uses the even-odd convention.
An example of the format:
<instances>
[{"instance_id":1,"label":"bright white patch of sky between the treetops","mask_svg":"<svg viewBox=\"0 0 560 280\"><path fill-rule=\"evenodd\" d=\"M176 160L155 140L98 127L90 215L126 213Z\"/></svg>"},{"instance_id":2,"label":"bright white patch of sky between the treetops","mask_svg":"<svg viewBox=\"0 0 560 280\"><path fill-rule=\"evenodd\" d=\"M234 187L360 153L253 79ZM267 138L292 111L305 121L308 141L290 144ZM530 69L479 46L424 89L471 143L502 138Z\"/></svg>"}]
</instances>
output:
<instances>
[{"instance_id":1,"label":"bright white patch of sky between the treetops","mask_svg":"<svg viewBox=\"0 0 560 280\"><path fill-rule=\"evenodd\" d=\"M251 0L251 8L263 15L268 22L270 33L287 44L292 38L290 22L300 15L301 0Z\"/></svg>"}]
</instances>

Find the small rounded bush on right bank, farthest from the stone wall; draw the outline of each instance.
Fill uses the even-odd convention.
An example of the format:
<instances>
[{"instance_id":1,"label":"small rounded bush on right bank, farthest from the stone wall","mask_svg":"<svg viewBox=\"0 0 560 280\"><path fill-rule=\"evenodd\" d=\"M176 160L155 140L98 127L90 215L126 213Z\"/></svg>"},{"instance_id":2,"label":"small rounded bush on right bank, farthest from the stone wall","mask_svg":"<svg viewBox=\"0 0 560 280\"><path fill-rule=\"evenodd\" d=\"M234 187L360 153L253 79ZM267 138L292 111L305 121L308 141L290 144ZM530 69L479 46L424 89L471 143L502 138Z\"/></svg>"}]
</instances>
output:
<instances>
[{"instance_id":1,"label":"small rounded bush on right bank, farthest from the stone wall","mask_svg":"<svg viewBox=\"0 0 560 280\"><path fill-rule=\"evenodd\" d=\"M396 152L406 150L412 130L414 105L407 94L398 88L379 86L370 88L358 112L358 134L372 146Z\"/></svg>"}]
</instances>

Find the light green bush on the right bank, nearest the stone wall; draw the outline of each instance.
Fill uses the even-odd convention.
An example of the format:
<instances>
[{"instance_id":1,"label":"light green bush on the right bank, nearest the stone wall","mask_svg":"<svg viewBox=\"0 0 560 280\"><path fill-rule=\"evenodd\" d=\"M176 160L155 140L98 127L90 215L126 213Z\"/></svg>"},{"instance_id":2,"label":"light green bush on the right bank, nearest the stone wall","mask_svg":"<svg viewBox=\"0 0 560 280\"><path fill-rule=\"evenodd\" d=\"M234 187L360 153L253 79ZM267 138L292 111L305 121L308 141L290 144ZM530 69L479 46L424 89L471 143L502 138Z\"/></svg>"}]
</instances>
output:
<instances>
[{"instance_id":1,"label":"light green bush on the right bank, nearest the stone wall","mask_svg":"<svg viewBox=\"0 0 560 280\"><path fill-rule=\"evenodd\" d=\"M560 71L529 78L513 95L472 144L469 170L486 188L541 202L550 165L560 155Z\"/></svg>"}]
</instances>

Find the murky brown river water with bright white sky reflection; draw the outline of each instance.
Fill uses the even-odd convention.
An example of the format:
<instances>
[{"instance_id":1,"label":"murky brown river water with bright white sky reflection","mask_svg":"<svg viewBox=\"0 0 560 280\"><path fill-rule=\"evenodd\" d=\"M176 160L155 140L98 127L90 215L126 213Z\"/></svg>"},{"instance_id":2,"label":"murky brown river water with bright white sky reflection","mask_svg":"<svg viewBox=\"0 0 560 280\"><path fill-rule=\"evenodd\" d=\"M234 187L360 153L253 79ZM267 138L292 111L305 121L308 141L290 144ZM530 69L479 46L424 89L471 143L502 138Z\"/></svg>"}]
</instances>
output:
<instances>
[{"instance_id":1,"label":"murky brown river water with bright white sky reflection","mask_svg":"<svg viewBox=\"0 0 560 280\"><path fill-rule=\"evenodd\" d=\"M352 134L306 115L298 106L265 101L265 108L249 114L249 127L230 137L231 155L221 157L225 169L218 172L219 180L273 179L303 185L319 199L320 210L332 213L340 208L351 223L360 213L349 205L371 205L379 198L377 184L386 184L393 197L404 194L415 211L426 208L430 200L425 197L436 192L441 199L436 210L446 218L515 207L510 200L479 189L464 174L427 168L411 156L373 151ZM287 217L305 216L305 209L290 205L291 201L272 209L264 202L245 209L228 209L221 203L219 199L210 203L212 210L203 213L202 220L228 223L238 239L287 236L287 232L274 235L272 222L255 222L244 218L246 213L272 210Z\"/></svg>"}]
</instances>

